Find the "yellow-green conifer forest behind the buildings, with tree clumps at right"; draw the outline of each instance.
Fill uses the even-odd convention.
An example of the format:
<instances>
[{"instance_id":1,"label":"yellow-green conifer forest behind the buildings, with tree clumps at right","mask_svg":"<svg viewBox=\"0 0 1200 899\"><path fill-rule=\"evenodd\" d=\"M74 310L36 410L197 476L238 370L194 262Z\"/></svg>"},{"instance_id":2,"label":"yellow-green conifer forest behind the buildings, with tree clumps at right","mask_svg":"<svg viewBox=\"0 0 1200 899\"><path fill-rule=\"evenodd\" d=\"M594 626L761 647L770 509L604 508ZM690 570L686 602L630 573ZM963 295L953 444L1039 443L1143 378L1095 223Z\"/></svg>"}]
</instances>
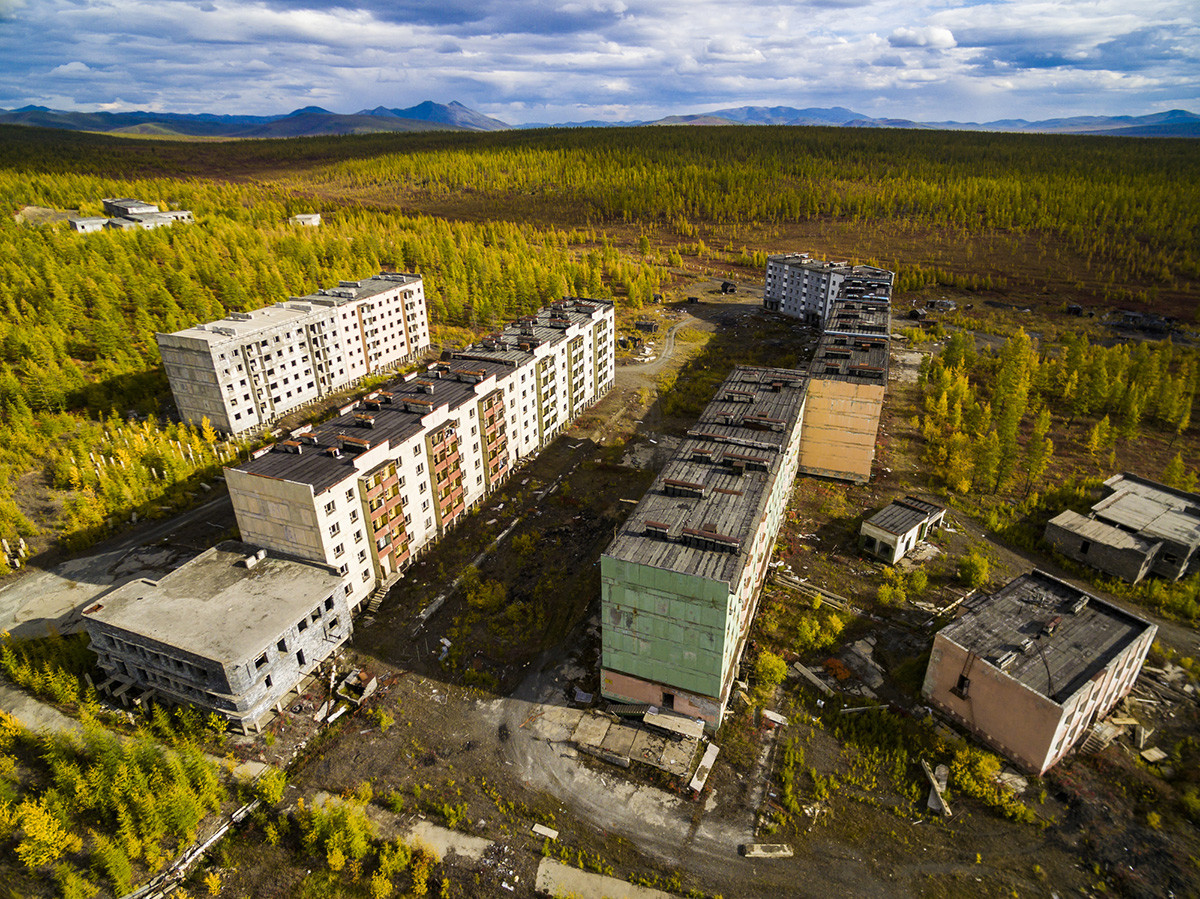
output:
<instances>
[{"instance_id":1,"label":"yellow-green conifer forest behind the buildings, with tree clumps at right","mask_svg":"<svg viewBox=\"0 0 1200 899\"><path fill-rule=\"evenodd\" d=\"M113 196L197 222L76 234L23 212L95 215ZM697 269L754 276L768 252L822 246L894 268L901 302L990 290L1192 322L1200 296L1200 158L1186 140L726 127L187 143L5 127L0 206L0 534L68 546L180 508L236 451L167 420L156 331L380 269L425 276L436 334L565 294L636 310ZM301 211L324 226L289 226ZM1098 374L1072 352L1025 377L1049 378L1055 403L1187 430L1192 356L1126 354ZM1114 367L1169 371L1170 395L1147 382L1100 396ZM949 408L979 420L952 426L935 397L935 461L950 486L996 489L1016 430L943 368ZM992 432L995 474L974 448ZM30 513L38 491L52 514Z\"/></svg>"}]
</instances>

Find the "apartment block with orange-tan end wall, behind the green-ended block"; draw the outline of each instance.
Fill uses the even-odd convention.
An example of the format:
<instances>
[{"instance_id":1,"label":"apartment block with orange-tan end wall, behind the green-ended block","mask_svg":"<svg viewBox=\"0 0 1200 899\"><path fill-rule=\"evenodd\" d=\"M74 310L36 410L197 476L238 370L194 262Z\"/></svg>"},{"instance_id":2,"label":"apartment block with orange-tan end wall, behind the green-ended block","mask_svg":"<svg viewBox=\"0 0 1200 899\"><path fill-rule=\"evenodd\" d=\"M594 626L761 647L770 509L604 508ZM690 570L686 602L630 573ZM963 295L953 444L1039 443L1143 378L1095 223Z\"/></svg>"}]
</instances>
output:
<instances>
[{"instance_id":1,"label":"apartment block with orange-tan end wall, behind the green-ended block","mask_svg":"<svg viewBox=\"0 0 1200 899\"><path fill-rule=\"evenodd\" d=\"M809 364L800 471L865 484L871 479L890 352L890 304L839 299Z\"/></svg>"}]
</instances>

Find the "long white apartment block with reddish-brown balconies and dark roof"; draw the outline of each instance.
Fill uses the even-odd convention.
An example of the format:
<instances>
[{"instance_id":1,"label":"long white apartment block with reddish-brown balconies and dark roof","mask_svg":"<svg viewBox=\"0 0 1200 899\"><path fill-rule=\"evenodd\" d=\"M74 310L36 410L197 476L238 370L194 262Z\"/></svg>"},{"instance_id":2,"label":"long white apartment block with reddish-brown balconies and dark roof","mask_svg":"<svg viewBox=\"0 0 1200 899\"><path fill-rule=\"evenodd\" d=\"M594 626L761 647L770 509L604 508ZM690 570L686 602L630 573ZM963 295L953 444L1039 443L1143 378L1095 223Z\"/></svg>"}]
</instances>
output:
<instances>
[{"instance_id":1,"label":"long white apartment block with reddish-brown balconies and dark roof","mask_svg":"<svg viewBox=\"0 0 1200 899\"><path fill-rule=\"evenodd\" d=\"M614 334L612 304L554 304L227 468L241 539L361 606L612 388Z\"/></svg>"}]
</instances>

